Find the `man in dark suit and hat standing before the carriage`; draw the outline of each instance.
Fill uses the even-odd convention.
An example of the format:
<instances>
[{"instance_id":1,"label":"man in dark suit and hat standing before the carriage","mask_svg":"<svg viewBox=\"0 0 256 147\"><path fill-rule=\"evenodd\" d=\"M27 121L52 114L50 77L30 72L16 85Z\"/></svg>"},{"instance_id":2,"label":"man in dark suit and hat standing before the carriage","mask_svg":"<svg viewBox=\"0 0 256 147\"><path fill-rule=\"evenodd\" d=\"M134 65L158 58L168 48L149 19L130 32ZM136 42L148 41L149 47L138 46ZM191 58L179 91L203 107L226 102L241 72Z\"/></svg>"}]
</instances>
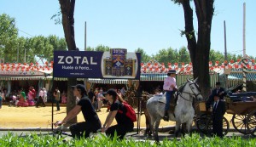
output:
<instances>
[{"instance_id":1,"label":"man in dark suit and hat standing before the carriage","mask_svg":"<svg viewBox=\"0 0 256 147\"><path fill-rule=\"evenodd\" d=\"M212 134L223 137L223 116L225 114L225 103L219 100L219 94L213 96L214 104L212 107Z\"/></svg>"}]
</instances>

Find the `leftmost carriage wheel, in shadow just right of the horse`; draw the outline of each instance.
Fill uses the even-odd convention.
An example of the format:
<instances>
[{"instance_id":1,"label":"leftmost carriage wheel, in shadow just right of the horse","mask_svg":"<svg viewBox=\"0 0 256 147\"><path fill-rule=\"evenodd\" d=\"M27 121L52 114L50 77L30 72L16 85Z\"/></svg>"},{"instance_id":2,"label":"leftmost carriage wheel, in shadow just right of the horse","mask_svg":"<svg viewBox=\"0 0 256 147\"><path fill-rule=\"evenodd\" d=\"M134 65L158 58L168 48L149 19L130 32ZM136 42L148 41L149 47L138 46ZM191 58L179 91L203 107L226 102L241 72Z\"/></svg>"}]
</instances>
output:
<instances>
[{"instance_id":1,"label":"leftmost carriage wheel, in shadow just right of the horse","mask_svg":"<svg viewBox=\"0 0 256 147\"><path fill-rule=\"evenodd\" d=\"M207 121L211 119L211 115L203 114L196 120L196 127L201 133L207 134Z\"/></svg>"}]
</instances>

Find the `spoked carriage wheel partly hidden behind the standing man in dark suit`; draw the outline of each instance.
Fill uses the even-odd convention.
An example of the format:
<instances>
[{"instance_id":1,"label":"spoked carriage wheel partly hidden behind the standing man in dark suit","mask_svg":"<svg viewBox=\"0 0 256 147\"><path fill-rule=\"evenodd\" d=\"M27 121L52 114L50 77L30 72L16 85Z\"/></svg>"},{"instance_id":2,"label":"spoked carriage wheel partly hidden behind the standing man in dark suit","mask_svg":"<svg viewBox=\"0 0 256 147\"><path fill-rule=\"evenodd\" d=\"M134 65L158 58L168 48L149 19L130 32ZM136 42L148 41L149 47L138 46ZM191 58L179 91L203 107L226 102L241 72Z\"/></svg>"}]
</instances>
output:
<instances>
[{"instance_id":1,"label":"spoked carriage wheel partly hidden behind the standing man in dark suit","mask_svg":"<svg viewBox=\"0 0 256 147\"><path fill-rule=\"evenodd\" d=\"M225 136L227 133L229 133L230 123L225 117L223 117L222 122L223 122L222 133L223 133L223 136ZM212 119L209 119L207 122L207 134L212 136Z\"/></svg>"}]
</instances>

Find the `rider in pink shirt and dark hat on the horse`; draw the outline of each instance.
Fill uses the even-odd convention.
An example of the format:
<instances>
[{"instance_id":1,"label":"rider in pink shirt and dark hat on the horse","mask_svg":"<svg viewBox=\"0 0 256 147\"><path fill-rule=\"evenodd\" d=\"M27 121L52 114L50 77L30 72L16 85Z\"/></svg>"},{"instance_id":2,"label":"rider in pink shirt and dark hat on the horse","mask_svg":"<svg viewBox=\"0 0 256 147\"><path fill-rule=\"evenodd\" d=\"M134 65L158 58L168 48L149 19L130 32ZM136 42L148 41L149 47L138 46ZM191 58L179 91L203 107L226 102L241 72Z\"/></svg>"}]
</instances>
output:
<instances>
[{"instance_id":1,"label":"rider in pink shirt and dark hat on the horse","mask_svg":"<svg viewBox=\"0 0 256 147\"><path fill-rule=\"evenodd\" d=\"M169 121L168 110L170 109L171 99L174 99L173 94L177 91L176 84L176 71L169 70L167 77L164 81L163 89L166 91L166 107L165 107L165 116L163 117L164 121Z\"/></svg>"}]
</instances>

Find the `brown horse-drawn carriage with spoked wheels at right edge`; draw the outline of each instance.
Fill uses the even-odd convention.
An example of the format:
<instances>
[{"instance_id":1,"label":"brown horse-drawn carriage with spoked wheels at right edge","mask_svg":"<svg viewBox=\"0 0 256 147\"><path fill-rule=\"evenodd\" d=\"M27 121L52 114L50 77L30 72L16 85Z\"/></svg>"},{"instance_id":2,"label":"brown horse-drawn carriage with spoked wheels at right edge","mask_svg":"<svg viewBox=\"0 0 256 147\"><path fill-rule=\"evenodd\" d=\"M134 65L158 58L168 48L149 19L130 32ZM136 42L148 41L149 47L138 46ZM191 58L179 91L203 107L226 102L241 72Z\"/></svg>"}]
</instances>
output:
<instances>
[{"instance_id":1,"label":"brown horse-drawn carriage with spoked wheels at right edge","mask_svg":"<svg viewBox=\"0 0 256 147\"><path fill-rule=\"evenodd\" d=\"M225 97L226 112L231 114L232 125L239 133L256 135L256 100L252 97L255 92L248 93L230 93ZM196 127L201 133L212 133L211 111L206 109L206 102L201 102L195 107ZM223 134L229 132L230 123L223 118Z\"/></svg>"}]
</instances>

